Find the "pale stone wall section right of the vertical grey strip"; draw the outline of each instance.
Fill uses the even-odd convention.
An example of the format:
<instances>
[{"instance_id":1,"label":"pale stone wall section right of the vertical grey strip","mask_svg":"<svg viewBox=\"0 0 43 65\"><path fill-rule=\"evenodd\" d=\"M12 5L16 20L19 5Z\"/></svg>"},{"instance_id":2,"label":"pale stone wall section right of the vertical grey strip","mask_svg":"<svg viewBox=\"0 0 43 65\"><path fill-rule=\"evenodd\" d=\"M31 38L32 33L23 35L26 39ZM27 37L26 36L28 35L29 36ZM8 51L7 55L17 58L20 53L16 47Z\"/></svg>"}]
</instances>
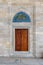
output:
<instances>
[{"instance_id":1,"label":"pale stone wall section right of the vertical grey strip","mask_svg":"<svg viewBox=\"0 0 43 65\"><path fill-rule=\"evenodd\" d=\"M43 2L36 2L36 56L43 53Z\"/></svg>"}]
</instances>

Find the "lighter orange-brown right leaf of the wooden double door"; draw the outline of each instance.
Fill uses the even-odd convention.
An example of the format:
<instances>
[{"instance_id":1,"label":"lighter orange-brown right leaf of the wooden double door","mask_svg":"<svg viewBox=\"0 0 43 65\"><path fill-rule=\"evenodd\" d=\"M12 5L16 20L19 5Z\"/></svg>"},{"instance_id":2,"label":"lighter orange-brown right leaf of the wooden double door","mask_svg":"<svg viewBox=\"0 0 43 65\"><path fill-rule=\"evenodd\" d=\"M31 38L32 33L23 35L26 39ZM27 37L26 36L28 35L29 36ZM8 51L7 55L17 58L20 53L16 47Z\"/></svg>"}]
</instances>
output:
<instances>
[{"instance_id":1,"label":"lighter orange-brown right leaf of the wooden double door","mask_svg":"<svg viewBox=\"0 0 43 65\"><path fill-rule=\"evenodd\" d=\"M27 29L21 30L21 35L22 35L21 50L28 51L28 30Z\"/></svg>"}]
</instances>

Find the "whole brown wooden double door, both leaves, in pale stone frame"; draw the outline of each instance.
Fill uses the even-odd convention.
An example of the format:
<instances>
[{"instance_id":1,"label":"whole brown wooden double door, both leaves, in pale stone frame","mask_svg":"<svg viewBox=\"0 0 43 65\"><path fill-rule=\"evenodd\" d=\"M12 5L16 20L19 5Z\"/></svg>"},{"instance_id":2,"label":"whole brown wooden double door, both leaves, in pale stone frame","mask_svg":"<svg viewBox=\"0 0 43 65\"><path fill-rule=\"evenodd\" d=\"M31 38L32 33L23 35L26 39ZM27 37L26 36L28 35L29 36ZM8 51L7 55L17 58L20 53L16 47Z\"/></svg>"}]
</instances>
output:
<instances>
[{"instance_id":1,"label":"whole brown wooden double door, both leaves, in pale stone frame","mask_svg":"<svg viewBox=\"0 0 43 65\"><path fill-rule=\"evenodd\" d=\"M15 51L28 51L28 29L15 29Z\"/></svg>"}]
</instances>

